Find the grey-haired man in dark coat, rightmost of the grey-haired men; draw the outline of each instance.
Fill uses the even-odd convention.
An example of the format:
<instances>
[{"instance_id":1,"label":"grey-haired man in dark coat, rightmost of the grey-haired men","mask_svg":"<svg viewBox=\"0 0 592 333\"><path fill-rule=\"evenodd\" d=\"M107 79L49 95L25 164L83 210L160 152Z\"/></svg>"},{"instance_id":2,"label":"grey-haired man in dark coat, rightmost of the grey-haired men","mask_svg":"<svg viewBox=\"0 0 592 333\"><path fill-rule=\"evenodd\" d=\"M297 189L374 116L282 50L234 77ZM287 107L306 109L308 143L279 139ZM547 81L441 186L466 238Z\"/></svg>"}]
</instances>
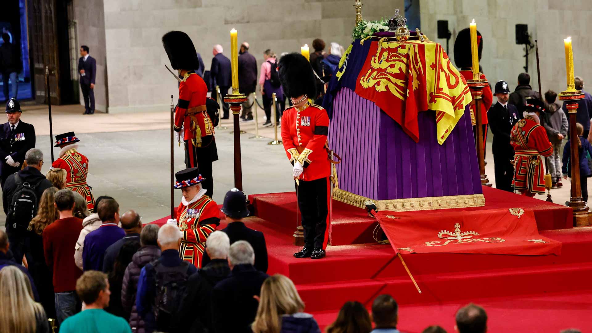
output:
<instances>
[{"instance_id":1,"label":"grey-haired man in dark coat, rightmost of the grey-haired men","mask_svg":"<svg viewBox=\"0 0 592 333\"><path fill-rule=\"evenodd\" d=\"M255 269L255 252L246 241L230 245L230 276L214 286L212 324L214 332L252 333L263 281L269 276ZM257 298L255 298L255 296ZM229 313L232 313L229 318Z\"/></svg>"}]
</instances>

